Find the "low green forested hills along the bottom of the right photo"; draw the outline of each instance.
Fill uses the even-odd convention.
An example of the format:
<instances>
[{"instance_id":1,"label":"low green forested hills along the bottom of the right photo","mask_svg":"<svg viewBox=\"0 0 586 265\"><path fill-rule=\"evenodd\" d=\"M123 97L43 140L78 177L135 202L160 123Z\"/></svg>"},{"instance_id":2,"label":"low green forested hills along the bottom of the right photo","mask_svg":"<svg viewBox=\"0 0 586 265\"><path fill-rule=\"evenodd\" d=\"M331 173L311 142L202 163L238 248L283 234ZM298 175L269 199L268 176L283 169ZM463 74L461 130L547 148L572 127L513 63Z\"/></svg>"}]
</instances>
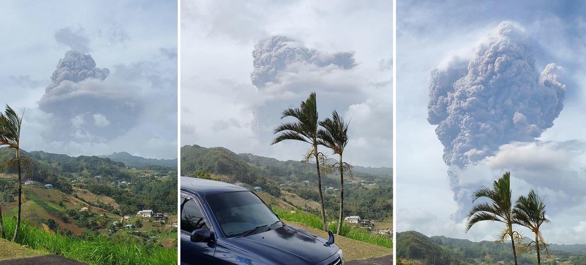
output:
<instances>
[{"instance_id":1,"label":"low green forested hills along the bottom of the right photo","mask_svg":"<svg viewBox=\"0 0 586 265\"><path fill-rule=\"evenodd\" d=\"M548 260L562 263L586 264L582 251L584 245L550 245L552 257ZM561 251L565 250L565 251ZM572 250L572 251L568 251ZM472 242L467 239L447 238L445 236L425 236L415 231L397 233L397 257L403 260L418 260L425 264L496 264L498 261L513 260L509 243L494 241ZM542 260L542 262L543 262ZM529 253L517 254L518 264L536 264L536 256Z\"/></svg>"}]
</instances>

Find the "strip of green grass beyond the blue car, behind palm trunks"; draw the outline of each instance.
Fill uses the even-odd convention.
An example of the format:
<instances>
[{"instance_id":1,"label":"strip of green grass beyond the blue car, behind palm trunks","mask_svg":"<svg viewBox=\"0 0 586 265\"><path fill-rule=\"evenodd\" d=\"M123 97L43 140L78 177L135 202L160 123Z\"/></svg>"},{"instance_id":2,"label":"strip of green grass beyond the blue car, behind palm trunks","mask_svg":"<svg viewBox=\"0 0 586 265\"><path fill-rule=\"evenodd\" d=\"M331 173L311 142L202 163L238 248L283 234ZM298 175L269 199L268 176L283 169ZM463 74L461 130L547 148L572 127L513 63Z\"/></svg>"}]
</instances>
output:
<instances>
[{"instance_id":1,"label":"strip of green grass beyond the blue car, behind palm trunks","mask_svg":"<svg viewBox=\"0 0 586 265\"><path fill-rule=\"evenodd\" d=\"M272 211L278 214L280 218L285 219L289 222L304 223L305 225L311 228L319 230L323 229L322 219L319 216L309 214L308 212L296 211L294 214L292 214L291 211L282 210L275 207L272 208ZM328 229L332 230L333 232L336 232L336 230L338 229L338 221L330 220ZM387 237L385 235L373 235L367 230L360 228L352 228L347 223L342 223L340 236L345 236L346 238L360 240L363 242L371 243L373 245L393 249L392 238Z\"/></svg>"}]
</instances>

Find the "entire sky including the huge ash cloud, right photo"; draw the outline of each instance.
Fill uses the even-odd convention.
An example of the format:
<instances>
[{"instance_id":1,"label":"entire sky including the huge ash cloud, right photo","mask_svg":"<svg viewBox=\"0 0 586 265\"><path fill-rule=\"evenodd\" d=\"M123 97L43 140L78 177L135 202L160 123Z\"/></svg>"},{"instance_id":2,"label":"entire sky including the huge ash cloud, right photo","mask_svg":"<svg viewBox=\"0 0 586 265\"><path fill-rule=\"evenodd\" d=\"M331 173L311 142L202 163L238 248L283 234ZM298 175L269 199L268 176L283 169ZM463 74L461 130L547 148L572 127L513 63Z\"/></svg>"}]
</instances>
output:
<instances>
[{"instance_id":1,"label":"entire sky including the huge ash cloud, right photo","mask_svg":"<svg viewBox=\"0 0 586 265\"><path fill-rule=\"evenodd\" d=\"M586 243L586 4L397 1L397 230L474 241L472 192L510 170L549 243ZM528 229L514 226L523 235Z\"/></svg>"}]
</instances>

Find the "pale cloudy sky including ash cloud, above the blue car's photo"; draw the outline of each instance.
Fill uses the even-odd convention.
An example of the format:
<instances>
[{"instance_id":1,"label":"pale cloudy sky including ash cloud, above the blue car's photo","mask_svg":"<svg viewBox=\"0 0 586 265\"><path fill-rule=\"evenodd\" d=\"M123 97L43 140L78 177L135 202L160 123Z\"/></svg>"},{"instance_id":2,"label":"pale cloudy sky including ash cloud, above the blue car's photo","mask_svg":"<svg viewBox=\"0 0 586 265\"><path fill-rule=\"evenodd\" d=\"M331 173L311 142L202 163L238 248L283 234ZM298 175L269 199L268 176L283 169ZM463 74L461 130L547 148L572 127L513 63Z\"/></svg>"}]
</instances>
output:
<instances>
[{"instance_id":1,"label":"pale cloudy sky including ash cloud, above the blue car's photo","mask_svg":"<svg viewBox=\"0 0 586 265\"><path fill-rule=\"evenodd\" d=\"M391 167L392 13L391 1L183 1L180 144L301 160L308 144L271 146L272 129L315 91L320 119L350 123L345 160Z\"/></svg>"}]
</instances>

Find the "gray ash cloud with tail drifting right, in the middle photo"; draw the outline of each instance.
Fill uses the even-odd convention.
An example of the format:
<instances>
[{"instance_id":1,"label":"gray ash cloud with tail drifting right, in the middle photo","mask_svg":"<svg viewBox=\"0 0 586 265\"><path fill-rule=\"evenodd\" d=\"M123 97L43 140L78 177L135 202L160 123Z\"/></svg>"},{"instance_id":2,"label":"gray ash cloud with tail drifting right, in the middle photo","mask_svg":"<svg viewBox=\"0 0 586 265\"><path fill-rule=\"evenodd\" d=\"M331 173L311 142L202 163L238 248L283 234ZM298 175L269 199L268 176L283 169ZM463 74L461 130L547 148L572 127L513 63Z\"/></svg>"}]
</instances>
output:
<instances>
[{"instance_id":1,"label":"gray ash cloud with tail drifting right, in the middle photo","mask_svg":"<svg viewBox=\"0 0 586 265\"><path fill-rule=\"evenodd\" d=\"M330 53L309 49L285 36L260 40L254 46L253 57L254 70L250 74L250 80L258 89L269 83L280 82L282 74L295 63L311 64L318 68L333 65L350 69L356 66L352 51Z\"/></svg>"}]
</instances>

